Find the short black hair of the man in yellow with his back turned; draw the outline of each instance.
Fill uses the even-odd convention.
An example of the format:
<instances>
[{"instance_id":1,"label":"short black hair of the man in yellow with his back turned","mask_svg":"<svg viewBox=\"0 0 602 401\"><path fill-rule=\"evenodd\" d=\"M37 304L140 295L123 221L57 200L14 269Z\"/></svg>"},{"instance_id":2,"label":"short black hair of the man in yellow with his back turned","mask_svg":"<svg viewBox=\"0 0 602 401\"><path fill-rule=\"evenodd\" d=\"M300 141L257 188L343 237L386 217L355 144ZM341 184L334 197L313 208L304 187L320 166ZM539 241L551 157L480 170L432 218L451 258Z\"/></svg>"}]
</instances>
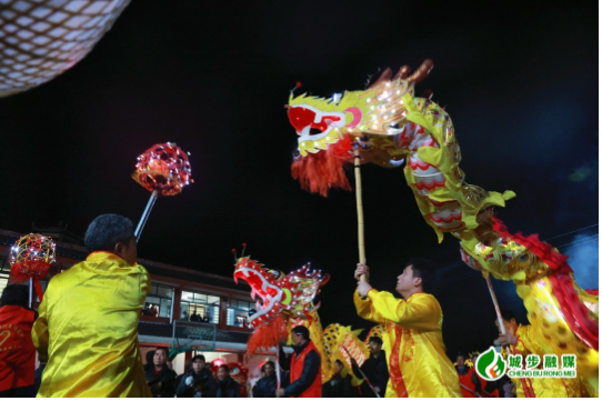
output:
<instances>
[{"instance_id":1,"label":"short black hair of the man in yellow with his back turned","mask_svg":"<svg viewBox=\"0 0 602 401\"><path fill-rule=\"evenodd\" d=\"M102 214L94 219L83 239L89 252L112 252L119 242L129 244L134 238L133 223L119 214Z\"/></svg>"}]
</instances>

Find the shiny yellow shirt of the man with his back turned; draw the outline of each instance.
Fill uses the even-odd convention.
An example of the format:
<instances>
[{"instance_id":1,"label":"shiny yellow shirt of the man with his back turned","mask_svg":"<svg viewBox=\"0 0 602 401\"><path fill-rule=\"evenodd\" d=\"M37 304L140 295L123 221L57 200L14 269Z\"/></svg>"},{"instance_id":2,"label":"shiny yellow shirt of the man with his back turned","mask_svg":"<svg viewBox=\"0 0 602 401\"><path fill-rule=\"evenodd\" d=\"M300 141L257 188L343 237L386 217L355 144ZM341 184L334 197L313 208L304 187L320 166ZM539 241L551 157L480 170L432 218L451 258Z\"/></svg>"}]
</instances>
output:
<instances>
[{"instance_id":1,"label":"shiny yellow shirt of the man with his back turned","mask_svg":"<svg viewBox=\"0 0 602 401\"><path fill-rule=\"evenodd\" d=\"M152 397L138 344L147 270L109 252L50 280L32 339L48 361L38 397Z\"/></svg>"}]
</instances>

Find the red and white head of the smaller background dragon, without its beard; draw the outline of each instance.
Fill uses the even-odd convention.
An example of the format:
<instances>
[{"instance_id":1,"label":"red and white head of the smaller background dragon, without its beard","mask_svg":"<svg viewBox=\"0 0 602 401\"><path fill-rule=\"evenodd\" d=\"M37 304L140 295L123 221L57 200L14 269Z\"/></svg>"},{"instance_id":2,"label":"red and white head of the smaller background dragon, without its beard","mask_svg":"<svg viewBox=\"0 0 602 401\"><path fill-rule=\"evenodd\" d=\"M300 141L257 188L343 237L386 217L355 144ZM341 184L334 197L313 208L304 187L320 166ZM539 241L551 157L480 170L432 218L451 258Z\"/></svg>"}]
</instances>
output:
<instances>
[{"instance_id":1,"label":"red and white head of the smaller background dragon, without its beard","mask_svg":"<svg viewBox=\"0 0 602 401\"><path fill-rule=\"evenodd\" d=\"M320 304L313 304L313 299L330 275L311 270L310 264L284 275L281 271L265 269L250 258L240 258L234 270L237 283L239 279L251 285L253 300L259 298L257 313L249 321L257 329L270 324L280 313L297 319L311 319L310 313L320 308Z\"/></svg>"}]
</instances>

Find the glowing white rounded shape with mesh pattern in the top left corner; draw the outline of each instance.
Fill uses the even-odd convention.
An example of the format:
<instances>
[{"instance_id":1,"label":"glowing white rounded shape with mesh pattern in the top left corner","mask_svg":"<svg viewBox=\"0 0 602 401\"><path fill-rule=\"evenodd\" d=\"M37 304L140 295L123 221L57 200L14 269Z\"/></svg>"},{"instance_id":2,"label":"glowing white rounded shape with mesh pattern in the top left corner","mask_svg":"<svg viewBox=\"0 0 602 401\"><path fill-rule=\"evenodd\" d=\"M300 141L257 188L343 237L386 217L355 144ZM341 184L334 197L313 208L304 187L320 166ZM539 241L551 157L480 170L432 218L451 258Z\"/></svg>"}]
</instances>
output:
<instances>
[{"instance_id":1,"label":"glowing white rounded shape with mesh pattern in the top left corner","mask_svg":"<svg viewBox=\"0 0 602 401\"><path fill-rule=\"evenodd\" d=\"M73 67L130 0L0 0L0 98Z\"/></svg>"}]
</instances>

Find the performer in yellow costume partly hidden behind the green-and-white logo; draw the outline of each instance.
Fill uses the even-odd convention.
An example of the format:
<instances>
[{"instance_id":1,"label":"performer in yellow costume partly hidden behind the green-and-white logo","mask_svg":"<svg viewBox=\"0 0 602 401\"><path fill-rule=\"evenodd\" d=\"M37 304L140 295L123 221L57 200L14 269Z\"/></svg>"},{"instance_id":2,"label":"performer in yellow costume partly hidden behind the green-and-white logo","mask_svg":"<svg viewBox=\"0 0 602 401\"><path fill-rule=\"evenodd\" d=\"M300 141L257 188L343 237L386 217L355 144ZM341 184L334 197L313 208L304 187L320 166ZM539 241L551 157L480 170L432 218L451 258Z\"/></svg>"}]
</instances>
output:
<instances>
[{"instance_id":1,"label":"performer in yellow costume partly hidden behind the green-and-white logo","mask_svg":"<svg viewBox=\"0 0 602 401\"><path fill-rule=\"evenodd\" d=\"M535 340L534 328L532 325L522 325L516 321L514 312L502 311L504 321L505 334L502 334L500 323L495 321L495 325L500 331L500 344L504 349L510 349L512 355L521 355L523 362L529 355L538 355L543 362L545 355L551 354ZM562 355L558 355L558 360L562 361ZM581 398L582 384L580 378L576 379L512 379L516 388L518 398Z\"/></svg>"}]
</instances>

